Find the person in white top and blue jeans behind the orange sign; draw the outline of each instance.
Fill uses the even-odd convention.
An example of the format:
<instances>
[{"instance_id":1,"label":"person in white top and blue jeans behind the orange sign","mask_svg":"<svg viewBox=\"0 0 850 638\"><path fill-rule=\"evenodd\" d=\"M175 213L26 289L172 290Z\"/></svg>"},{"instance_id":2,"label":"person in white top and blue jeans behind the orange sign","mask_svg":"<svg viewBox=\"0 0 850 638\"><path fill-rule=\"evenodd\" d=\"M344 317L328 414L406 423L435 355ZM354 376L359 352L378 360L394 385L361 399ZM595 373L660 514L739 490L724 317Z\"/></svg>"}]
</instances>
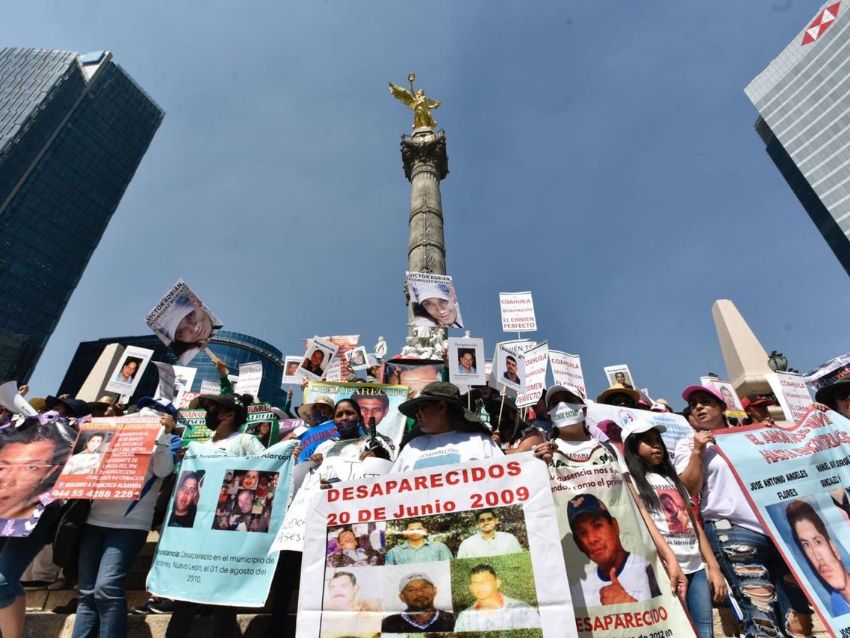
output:
<instances>
[{"instance_id":1,"label":"person in white top and blue jeans behind the orange sign","mask_svg":"<svg viewBox=\"0 0 850 638\"><path fill-rule=\"evenodd\" d=\"M92 502L80 540L80 602L72 638L127 636L127 573L150 531L159 482L174 471L171 431L175 421L162 416L160 423L163 433L156 441L139 499Z\"/></svg>"}]
</instances>

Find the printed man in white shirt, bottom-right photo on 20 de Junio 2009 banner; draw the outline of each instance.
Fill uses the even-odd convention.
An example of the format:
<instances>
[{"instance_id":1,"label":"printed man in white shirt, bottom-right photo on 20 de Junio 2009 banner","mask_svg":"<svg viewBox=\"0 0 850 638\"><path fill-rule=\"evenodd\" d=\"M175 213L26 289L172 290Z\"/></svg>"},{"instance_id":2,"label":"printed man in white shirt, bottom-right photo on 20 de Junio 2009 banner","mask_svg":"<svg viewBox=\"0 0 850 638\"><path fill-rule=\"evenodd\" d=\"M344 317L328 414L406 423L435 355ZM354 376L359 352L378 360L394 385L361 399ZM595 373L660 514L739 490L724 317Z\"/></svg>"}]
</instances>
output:
<instances>
[{"instance_id":1,"label":"printed man in white shirt, bottom-right photo on 20 de Junio 2009 banner","mask_svg":"<svg viewBox=\"0 0 850 638\"><path fill-rule=\"evenodd\" d=\"M487 564L469 572L469 591L475 602L458 614L455 631L497 631L540 626L540 615L527 603L502 592L502 579Z\"/></svg>"}]
</instances>

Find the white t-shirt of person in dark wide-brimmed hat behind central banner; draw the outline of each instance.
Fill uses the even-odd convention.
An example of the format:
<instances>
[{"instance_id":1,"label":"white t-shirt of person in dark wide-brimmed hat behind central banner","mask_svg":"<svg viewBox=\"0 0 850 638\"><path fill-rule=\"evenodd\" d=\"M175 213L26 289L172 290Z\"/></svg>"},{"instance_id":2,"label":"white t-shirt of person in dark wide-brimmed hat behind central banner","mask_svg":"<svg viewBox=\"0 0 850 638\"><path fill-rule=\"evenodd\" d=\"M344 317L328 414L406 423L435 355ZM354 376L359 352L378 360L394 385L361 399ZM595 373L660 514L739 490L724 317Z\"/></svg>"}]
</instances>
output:
<instances>
[{"instance_id":1,"label":"white t-shirt of person in dark wide-brimmed hat behind central banner","mask_svg":"<svg viewBox=\"0 0 850 638\"><path fill-rule=\"evenodd\" d=\"M408 472L497 456L502 456L502 451L490 437L478 432L422 434L404 447L390 472Z\"/></svg>"}]
</instances>

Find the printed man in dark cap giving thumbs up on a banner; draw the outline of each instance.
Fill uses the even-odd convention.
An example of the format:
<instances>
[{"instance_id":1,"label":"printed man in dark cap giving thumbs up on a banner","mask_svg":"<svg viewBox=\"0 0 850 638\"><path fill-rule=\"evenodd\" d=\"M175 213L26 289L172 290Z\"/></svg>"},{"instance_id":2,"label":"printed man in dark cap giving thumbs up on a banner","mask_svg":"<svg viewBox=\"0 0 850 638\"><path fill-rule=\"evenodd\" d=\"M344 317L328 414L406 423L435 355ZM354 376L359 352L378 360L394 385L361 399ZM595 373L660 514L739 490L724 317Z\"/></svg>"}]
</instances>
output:
<instances>
[{"instance_id":1,"label":"printed man in dark cap giving thumbs up on a banner","mask_svg":"<svg viewBox=\"0 0 850 638\"><path fill-rule=\"evenodd\" d=\"M567 521L579 550L596 564L573 600L586 607L633 603L661 595L652 566L630 554L620 540L620 526L605 504L593 494L581 494L567 504Z\"/></svg>"}]
</instances>

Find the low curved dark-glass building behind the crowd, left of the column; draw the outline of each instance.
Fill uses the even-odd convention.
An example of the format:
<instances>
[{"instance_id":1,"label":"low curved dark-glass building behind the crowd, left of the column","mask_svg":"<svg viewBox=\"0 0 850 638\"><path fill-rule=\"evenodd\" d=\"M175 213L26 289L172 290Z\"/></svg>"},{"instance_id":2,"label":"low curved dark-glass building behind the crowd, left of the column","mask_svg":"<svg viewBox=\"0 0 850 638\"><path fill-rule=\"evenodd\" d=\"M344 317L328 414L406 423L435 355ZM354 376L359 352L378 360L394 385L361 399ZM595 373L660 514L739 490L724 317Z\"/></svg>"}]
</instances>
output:
<instances>
[{"instance_id":1,"label":"low curved dark-glass building behind the crowd, left of the column","mask_svg":"<svg viewBox=\"0 0 850 638\"><path fill-rule=\"evenodd\" d=\"M148 348L154 351L153 361L164 361L172 365L177 364L177 359L171 354L171 351L153 334L140 337L112 337L97 339L96 341L83 341L77 346L77 351L74 353L74 358L65 372L65 378L62 379L62 384L59 386L57 394L76 396L89 372L91 372L91 369L97 362L98 357L100 357L100 353L110 343L118 343L125 347L138 346L139 348ZM281 381L283 380L283 354L280 350L262 339L257 339L256 337L239 332L230 332L229 330L219 330L210 339L207 347L212 350L216 357L224 361L227 368L233 374L238 373L240 363L260 361L263 364L260 398L272 405L284 405L286 402L286 390L281 389ZM195 380L192 383L191 390L193 392L200 391L201 382L205 379L218 381L218 370L206 352L198 353L189 365L198 370L195 374ZM139 386L136 388L132 400L136 401L140 397L153 396L154 392L156 392L157 383L159 383L159 375L156 366L149 365L145 369L141 381L139 381ZM42 389L41 391L46 392L46 389Z\"/></svg>"}]
</instances>

